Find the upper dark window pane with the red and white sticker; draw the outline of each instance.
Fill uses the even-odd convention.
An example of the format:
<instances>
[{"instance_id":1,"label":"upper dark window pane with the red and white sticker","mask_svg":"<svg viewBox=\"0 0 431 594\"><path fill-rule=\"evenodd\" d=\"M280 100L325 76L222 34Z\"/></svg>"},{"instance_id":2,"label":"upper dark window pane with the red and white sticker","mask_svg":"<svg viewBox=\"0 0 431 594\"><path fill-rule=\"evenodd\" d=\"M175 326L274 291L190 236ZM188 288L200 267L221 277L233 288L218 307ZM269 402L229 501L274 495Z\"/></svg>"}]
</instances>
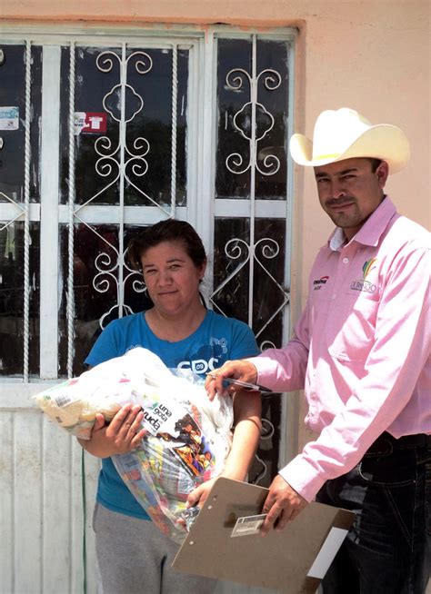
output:
<instances>
[{"instance_id":1,"label":"upper dark window pane with the red and white sticker","mask_svg":"<svg viewBox=\"0 0 431 594\"><path fill-rule=\"evenodd\" d=\"M69 60L62 52L61 201L68 200ZM169 205L173 52L75 49L75 203ZM188 51L177 53L175 200L185 204ZM124 103L124 106L123 106ZM124 134L124 135L123 135Z\"/></svg>"}]
</instances>

